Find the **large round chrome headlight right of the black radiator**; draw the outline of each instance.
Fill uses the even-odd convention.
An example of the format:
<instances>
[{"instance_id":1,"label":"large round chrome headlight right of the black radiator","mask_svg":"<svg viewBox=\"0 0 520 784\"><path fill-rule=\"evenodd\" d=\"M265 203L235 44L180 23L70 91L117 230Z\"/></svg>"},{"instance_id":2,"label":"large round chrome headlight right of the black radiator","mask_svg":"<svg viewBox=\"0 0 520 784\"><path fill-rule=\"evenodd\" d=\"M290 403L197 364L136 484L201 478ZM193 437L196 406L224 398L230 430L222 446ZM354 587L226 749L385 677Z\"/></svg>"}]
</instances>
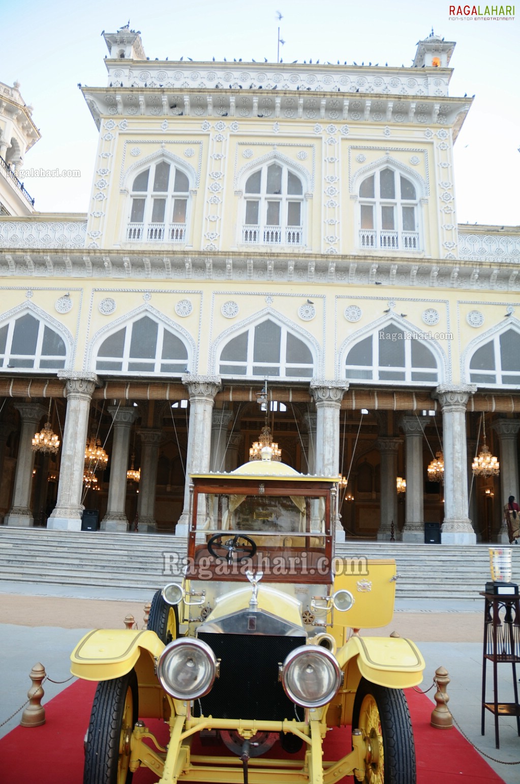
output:
<instances>
[{"instance_id":1,"label":"large round chrome headlight right of the black radiator","mask_svg":"<svg viewBox=\"0 0 520 784\"><path fill-rule=\"evenodd\" d=\"M341 686L341 678L334 655L321 645L295 648L283 662L283 689L304 708L327 705Z\"/></svg>"}]
</instances>

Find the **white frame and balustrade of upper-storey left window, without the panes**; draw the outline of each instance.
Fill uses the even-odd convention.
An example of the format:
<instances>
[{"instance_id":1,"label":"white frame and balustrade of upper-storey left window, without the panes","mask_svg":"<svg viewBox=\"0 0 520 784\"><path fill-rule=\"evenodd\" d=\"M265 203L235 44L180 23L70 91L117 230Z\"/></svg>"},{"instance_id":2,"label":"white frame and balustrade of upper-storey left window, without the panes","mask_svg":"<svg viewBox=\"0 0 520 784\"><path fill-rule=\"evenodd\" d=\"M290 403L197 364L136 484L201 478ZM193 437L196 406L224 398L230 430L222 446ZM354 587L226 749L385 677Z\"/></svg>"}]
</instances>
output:
<instances>
[{"instance_id":1,"label":"white frame and balustrade of upper-storey left window, without the panes","mask_svg":"<svg viewBox=\"0 0 520 784\"><path fill-rule=\"evenodd\" d=\"M157 165L166 163L170 167L168 179L168 191L153 191L153 183L155 181L155 169ZM148 187L146 191L134 191L133 184L136 178L146 172L148 169ZM188 180L187 191L174 191L175 184L175 169L179 169ZM125 226L125 239L127 242L161 242L166 245L186 244L186 234L188 226L190 225L190 175L182 166L177 163L168 161L168 158L157 158L156 161L148 162L142 169L132 172L132 183L128 195L128 211L127 221ZM142 223L132 223L132 204L134 199L142 198L145 200L144 214ZM164 221L162 223L153 223L153 199L164 198L166 204L164 205ZM176 198L186 199L186 220L184 223L173 223L169 220L168 216L173 219L173 207Z\"/></svg>"}]
</instances>

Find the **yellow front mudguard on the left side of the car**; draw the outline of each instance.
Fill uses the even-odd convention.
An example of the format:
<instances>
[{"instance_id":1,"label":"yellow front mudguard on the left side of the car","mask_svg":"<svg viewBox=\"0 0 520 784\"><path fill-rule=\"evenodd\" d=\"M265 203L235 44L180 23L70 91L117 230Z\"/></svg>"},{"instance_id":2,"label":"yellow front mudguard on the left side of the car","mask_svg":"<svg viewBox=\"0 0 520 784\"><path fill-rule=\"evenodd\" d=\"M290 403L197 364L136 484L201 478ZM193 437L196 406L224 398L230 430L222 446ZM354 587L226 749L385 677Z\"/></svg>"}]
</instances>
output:
<instances>
[{"instance_id":1,"label":"yellow front mudguard on the left side of the car","mask_svg":"<svg viewBox=\"0 0 520 784\"><path fill-rule=\"evenodd\" d=\"M70 654L70 672L85 681L109 681L125 675L147 651L161 654L164 643L152 631L95 629L85 634Z\"/></svg>"}]
</instances>

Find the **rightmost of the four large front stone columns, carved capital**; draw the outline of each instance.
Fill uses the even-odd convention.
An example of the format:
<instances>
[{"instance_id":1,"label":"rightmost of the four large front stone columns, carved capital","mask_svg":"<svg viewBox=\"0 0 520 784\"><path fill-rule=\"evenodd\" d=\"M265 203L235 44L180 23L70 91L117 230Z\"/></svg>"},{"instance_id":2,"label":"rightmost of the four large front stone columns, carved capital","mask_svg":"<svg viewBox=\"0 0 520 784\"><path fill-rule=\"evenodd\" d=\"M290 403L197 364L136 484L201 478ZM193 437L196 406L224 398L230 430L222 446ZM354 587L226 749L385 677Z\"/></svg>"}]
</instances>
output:
<instances>
[{"instance_id":1,"label":"rightmost of the four large front stone columns, carved capital","mask_svg":"<svg viewBox=\"0 0 520 784\"><path fill-rule=\"evenodd\" d=\"M466 446L466 404L475 384L441 384L432 397L442 406L444 441L444 522L442 544L476 544L477 537L468 517L468 451Z\"/></svg>"}]
</instances>

